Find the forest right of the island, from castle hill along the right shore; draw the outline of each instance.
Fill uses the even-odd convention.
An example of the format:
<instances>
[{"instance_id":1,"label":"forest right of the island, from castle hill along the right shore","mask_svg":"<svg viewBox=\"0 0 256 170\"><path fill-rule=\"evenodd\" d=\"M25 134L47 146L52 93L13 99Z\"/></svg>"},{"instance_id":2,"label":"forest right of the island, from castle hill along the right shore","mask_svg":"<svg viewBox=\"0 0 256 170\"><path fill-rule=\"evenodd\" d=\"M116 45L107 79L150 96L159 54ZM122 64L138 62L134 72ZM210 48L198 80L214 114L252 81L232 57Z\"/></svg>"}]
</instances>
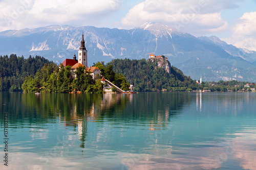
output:
<instances>
[{"instance_id":1,"label":"forest right of the island, from castle hill along the right shore","mask_svg":"<svg viewBox=\"0 0 256 170\"><path fill-rule=\"evenodd\" d=\"M124 75L127 82L134 85L135 91L251 91L254 83L232 81L202 82L197 84L189 76L175 66L170 67L170 74L163 68L157 67L157 62L148 62L146 59L130 60L115 59L106 65L113 65L113 70ZM250 87L244 87L249 84Z\"/></svg>"}]
</instances>

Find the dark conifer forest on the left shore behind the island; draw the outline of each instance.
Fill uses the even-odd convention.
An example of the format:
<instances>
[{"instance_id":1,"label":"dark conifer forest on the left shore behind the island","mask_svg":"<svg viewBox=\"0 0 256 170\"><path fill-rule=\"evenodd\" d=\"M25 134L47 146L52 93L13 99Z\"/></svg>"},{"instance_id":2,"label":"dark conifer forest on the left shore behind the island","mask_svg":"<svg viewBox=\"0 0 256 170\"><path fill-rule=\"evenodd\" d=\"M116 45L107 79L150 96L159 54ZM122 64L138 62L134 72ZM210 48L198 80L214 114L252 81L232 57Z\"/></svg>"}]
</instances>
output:
<instances>
[{"instance_id":1,"label":"dark conifer forest on the left shore behind the island","mask_svg":"<svg viewBox=\"0 0 256 170\"><path fill-rule=\"evenodd\" d=\"M22 91L25 78L35 75L45 64L54 62L40 56L29 56L28 59L15 54L0 56L0 91Z\"/></svg>"}]
</instances>

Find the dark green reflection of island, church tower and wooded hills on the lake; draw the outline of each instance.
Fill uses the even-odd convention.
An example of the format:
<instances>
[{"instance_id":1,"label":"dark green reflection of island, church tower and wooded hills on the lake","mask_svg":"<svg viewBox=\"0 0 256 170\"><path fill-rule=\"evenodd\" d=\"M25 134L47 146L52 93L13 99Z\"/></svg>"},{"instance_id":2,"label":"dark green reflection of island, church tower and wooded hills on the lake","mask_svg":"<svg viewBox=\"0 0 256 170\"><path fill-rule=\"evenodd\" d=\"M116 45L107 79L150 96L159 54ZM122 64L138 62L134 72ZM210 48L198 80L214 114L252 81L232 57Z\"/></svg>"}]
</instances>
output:
<instances>
[{"instance_id":1,"label":"dark green reflection of island, church tower and wooded hills on the lake","mask_svg":"<svg viewBox=\"0 0 256 170\"><path fill-rule=\"evenodd\" d=\"M186 93L139 94L31 94L0 93L2 103L11 107L1 110L12 113L10 122L45 124L61 122L77 130L84 147L88 122L105 120L121 125L131 121L148 126L148 130L167 127L171 118L179 115L184 103L190 103ZM136 124L134 124L136 126Z\"/></svg>"}]
</instances>

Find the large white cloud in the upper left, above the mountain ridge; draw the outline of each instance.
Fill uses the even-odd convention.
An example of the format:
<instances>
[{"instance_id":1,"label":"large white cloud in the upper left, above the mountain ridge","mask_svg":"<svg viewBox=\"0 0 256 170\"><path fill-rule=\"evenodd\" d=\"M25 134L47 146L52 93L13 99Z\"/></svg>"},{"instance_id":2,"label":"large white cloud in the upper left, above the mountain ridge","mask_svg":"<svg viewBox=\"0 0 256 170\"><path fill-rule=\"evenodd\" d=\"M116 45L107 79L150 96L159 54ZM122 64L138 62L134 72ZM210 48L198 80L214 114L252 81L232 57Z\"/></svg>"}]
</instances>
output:
<instances>
[{"instance_id":1,"label":"large white cloud in the upper left, above the mountain ridge","mask_svg":"<svg viewBox=\"0 0 256 170\"><path fill-rule=\"evenodd\" d=\"M47 25L97 25L121 9L121 0L13 0L0 2L0 30Z\"/></svg>"}]
</instances>

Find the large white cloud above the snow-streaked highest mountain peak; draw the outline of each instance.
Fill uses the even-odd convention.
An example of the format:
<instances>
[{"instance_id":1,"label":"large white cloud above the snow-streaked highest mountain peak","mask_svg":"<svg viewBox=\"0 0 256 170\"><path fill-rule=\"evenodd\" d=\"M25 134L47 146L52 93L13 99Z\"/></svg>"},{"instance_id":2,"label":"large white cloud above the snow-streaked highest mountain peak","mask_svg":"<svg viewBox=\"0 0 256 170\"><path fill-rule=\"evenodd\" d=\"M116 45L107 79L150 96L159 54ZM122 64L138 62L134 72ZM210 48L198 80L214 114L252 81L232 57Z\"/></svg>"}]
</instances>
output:
<instances>
[{"instance_id":1,"label":"large white cloud above the snow-streaked highest mountain peak","mask_svg":"<svg viewBox=\"0 0 256 170\"><path fill-rule=\"evenodd\" d=\"M147 21L162 22L194 35L228 30L221 11L238 8L243 1L221 0L146 0L134 6L121 23L124 27L137 27Z\"/></svg>"}]
</instances>

